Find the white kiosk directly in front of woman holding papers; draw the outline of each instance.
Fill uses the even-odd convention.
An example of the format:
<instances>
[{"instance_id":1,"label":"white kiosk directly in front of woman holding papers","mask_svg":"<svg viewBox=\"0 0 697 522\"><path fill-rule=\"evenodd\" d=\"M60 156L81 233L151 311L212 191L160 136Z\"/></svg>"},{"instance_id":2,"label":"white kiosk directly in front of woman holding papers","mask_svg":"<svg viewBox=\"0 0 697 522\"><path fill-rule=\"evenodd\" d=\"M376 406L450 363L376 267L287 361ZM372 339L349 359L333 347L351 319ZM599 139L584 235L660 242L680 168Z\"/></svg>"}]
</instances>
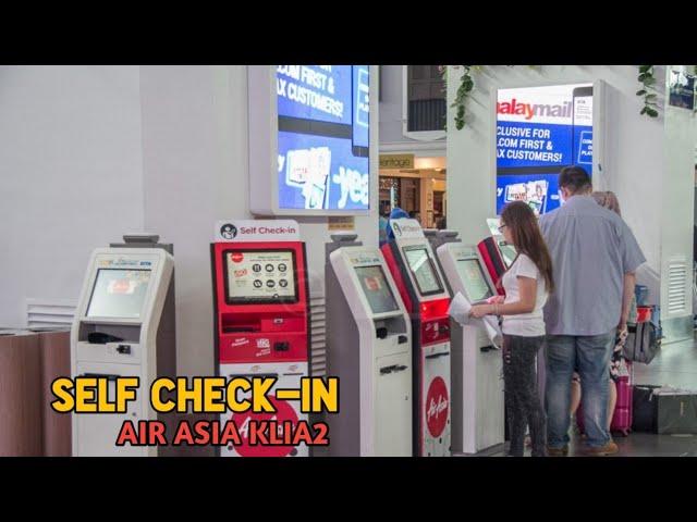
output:
<instances>
[{"instance_id":1,"label":"white kiosk directly in front of woman holding papers","mask_svg":"<svg viewBox=\"0 0 697 522\"><path fill-rule=\"evenodd\" d=\"M496 295L477 248L448 243L438 258L453 294L470 303ZM502 360L481 325L466 326L451 320L452 343L452 448L478 453L504 440Z\"/></svg>"}]
</instances>

